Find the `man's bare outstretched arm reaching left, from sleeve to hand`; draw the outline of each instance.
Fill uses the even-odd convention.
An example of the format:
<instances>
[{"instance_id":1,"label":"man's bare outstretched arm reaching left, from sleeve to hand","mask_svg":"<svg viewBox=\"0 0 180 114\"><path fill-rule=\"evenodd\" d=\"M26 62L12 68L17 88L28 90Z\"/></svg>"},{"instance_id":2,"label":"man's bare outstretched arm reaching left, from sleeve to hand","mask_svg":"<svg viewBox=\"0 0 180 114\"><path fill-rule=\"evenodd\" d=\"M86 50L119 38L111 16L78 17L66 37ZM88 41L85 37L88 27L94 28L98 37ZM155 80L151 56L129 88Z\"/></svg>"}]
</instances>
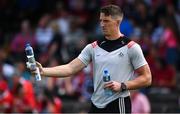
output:
<instances>
[{"instance_id":1,"label":"man's bare outstretched arm reaching left, from sleeve to hand","mask_svg":"<svg viewBox=\"0 0 180 114\"><path fill-rule=\"evenodd\" d=\"M56 67L43 68L40 63L37 63L42 76L48 77L68 77L81 71L85 64L78 58L72 60L70 63Z\"/></svg>"}]
</instances>

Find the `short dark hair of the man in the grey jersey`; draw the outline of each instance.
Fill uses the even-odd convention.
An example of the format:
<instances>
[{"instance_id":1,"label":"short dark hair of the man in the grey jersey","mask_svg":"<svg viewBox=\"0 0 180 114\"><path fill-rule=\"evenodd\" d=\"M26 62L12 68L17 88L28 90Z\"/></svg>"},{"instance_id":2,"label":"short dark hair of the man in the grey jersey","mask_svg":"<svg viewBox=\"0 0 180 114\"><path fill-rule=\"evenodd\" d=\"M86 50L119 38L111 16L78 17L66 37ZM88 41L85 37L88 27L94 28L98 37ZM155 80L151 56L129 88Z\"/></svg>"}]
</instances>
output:
<instances>
[{"instance_id":1,"label":"short dark hair of the man in the grey jersey","mask_svg":"<svg viewBox=\"0 0 180 114\"><path fill-rule=\"evenodd\" d=\"M121 8L117 5L107 5L100 9L100 13L104 13L106 16L111 15L112 17L120 16L123 17Z\"/></svg>"}]
</instances>

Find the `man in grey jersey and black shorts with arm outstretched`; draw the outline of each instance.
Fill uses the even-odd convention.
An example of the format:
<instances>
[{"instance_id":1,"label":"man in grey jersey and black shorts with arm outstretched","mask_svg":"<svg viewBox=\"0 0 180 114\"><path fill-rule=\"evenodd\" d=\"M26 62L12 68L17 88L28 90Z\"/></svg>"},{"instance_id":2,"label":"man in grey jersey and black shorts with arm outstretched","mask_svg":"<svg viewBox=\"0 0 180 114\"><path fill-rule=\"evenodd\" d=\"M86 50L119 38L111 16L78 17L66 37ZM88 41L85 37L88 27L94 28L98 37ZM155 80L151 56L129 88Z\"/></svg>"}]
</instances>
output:
<instances>
[{"instance_id":1,"label":"man in grey jersey and black shorts with arm outstretched","mask_svg":"<svg viewBox=\"0 0 180 114\"><path fill-rule=\"evenodd\" d=\"M94 93L90 113L130 113L129 90L151 84L151 72L140 46L128 40L119 30L122 18L123 13L118 6L101 8L100 25L105 36L103 41L88 44L77 58L66 65L43 68L37 63L41 75L68 77L92 62ZM109 70L112 81L103 82L104 69ZM113 95L106 96L104 88L112 90Z\"/></svg>"}]
</instances>

